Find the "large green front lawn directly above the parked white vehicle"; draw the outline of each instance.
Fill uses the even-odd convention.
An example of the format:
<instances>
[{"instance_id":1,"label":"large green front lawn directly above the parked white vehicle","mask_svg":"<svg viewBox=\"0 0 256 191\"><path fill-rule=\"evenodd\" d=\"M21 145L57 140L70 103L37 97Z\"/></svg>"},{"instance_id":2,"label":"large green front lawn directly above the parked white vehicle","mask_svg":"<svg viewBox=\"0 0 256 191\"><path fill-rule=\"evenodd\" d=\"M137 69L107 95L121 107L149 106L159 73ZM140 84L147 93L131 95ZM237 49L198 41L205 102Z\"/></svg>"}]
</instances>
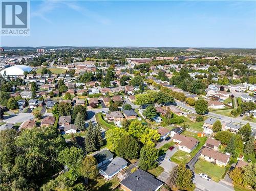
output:
<instances>
[{"instance_id":1,"label":"large green front lawn directly above the parked white vehicle","mask_svg":"<svg viewBox=\"0 0 256 191\"><path fill-rule=\"evenodd\" d=\"M219 182L225 174L226 168L216 164L199 159L195 164L195 172L197 174L204 173L211 177L212 180Z\"/></svg>"}]
</instances>

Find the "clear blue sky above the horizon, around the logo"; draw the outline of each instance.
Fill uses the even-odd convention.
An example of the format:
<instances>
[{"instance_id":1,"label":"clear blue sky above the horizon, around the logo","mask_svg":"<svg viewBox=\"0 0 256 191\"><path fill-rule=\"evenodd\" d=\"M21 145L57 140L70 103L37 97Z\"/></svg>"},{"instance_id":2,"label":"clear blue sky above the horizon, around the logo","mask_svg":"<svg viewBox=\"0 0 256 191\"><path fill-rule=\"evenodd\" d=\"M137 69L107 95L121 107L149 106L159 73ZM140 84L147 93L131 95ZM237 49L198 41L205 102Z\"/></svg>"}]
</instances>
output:
<instances>
[{"instance_id":1,"label":"clear blue sky above the horizon, around the logo","mask_svg":"<svg viewBox=\"0 0 256 191\"><path fill-rule=\"evenodd\" d=\"M31 1L1 46L256 47L256 1Z\"/></svg>"}]
</instances>

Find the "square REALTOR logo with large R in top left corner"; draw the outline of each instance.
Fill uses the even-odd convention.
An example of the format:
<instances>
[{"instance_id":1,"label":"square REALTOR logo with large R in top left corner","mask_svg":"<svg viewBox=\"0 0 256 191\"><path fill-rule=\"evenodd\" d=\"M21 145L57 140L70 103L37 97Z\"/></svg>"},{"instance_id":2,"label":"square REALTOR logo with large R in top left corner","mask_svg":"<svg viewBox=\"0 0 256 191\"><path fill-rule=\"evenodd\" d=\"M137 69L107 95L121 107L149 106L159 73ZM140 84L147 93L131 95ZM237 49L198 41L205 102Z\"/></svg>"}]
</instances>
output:
<instances>
[{"instance_id":1,"label":"square REALTOR logo with large R in top left corner","mask_svg":"<svg viewBox=\"0 0 256 191\"><path fill-rule=\"evenodd\" d=\"M1 4L2 35L29 35L29 2L5 1Z\"/></svg>"}]
</instances>

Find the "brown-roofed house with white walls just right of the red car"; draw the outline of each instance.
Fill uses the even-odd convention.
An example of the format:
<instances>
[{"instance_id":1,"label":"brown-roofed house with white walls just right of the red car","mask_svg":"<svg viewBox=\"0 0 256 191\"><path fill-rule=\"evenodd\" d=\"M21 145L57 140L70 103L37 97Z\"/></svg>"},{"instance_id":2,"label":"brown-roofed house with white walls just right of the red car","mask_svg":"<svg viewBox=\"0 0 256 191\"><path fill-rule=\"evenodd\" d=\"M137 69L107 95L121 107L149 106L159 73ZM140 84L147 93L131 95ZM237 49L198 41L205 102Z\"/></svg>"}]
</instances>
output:
<instances>
[{"instance_id":1,"label":"brown-roofed house with white walls just right of the red car","mask_svg":"<svg viewBox=\"0 0 256 191\"><path fill-rule=\"evenodd\" d=\"M173 141L178 142L178 148L187 153L191 153L199 144L198 139L181 134L175 134Z\"/></svg>"}]
</instances>

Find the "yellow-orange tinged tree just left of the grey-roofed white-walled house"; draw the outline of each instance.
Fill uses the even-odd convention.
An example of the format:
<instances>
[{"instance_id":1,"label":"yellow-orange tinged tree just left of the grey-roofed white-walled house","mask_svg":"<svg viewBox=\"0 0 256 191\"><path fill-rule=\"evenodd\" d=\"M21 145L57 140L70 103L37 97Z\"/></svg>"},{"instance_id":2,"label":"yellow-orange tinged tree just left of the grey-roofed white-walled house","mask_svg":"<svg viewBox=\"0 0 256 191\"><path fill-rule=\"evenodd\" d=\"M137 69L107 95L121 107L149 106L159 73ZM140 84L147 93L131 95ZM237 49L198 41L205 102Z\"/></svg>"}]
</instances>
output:
<instances>
[{"instance_id":1,"label":"yellow-orange tinged tree just left of the grey-roofed white-walled house","mask_svg":"<svg viewBox=\"0 0 256 191\"><path fill-rule=\"evenodd\" d=\"M80 174L84 177L84 181L88 184L88 179L95 179L99 174L97 169L97 161L94 156L87 156L82 161Z\"/></svg>"}]
</instances>

